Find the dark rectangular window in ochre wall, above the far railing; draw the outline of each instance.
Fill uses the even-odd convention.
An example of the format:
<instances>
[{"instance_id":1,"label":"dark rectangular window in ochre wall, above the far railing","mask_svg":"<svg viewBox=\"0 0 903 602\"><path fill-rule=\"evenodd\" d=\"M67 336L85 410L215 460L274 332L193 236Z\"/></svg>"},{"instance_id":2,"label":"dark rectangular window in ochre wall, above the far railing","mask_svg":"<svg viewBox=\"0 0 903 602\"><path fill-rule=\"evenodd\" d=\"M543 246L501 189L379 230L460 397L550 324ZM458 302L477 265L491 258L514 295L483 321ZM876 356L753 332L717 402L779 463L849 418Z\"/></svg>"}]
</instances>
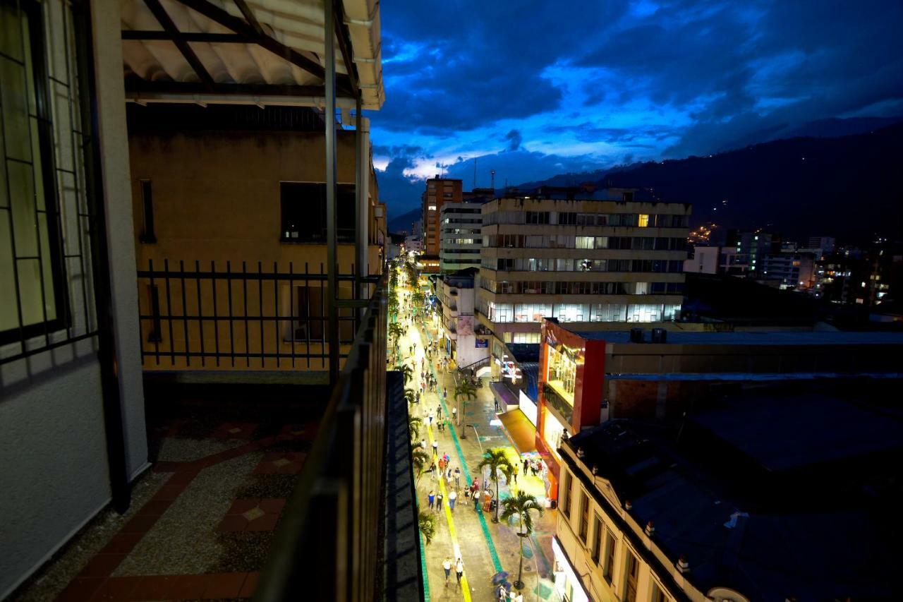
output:
<instances>
[{"instance_id":1,"label":"dark rectangular window in ochre wall, above the far railing","mask_svg":"<svg viewBox=\"0 0 903 602\"><path fill-rule=\"evenodd\" d=\"M354 184L336 186L336 238L354 240ZM326 241L326 184L281 182L282 234L286 242ZM429 233L430 230L427 231Z\"/></svg>"}]
</instances>

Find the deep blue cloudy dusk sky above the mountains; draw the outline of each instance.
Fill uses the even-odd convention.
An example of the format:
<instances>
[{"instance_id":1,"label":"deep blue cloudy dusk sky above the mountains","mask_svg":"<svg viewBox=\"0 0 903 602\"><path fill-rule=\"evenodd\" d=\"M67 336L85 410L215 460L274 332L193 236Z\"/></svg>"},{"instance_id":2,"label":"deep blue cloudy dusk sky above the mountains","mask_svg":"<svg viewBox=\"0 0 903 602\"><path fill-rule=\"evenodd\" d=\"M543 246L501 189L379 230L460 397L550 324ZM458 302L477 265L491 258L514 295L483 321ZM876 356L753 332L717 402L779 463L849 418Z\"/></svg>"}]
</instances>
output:
<instances>
[{"instance_id":1,"label":"deep blue cloudy dusk sky above the mountains","mask_svg":"<svg viewBox=\"0 0 903 602\"><path fill-rule=\"evenodd\" d=\"M903 115L903 2L380 4L372 119L390 217L442 169L479 186L707 155ZM437 167L443 165L443 168Z\"/></svg>"}]
</instances>

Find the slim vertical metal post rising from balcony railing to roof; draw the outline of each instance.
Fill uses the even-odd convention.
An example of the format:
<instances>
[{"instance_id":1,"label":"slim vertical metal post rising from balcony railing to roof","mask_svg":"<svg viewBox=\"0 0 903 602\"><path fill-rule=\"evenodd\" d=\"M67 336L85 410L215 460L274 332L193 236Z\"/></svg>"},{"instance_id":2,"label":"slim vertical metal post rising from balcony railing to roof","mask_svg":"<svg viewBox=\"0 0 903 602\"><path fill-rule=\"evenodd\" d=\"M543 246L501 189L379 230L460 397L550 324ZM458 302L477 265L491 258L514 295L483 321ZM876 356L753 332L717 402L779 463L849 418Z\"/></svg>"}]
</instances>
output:
<instances>
[{"instance_id":1,"label":"slim vertical metal post rising from balcony railing to roof","mask_svg":"<svg viewBox=\"0 0 903 602\"><path fill-rule=\"evenodd\" d=\"M339 287L336 280L336 46L333 0L323 2L324 62L326 67L326 273L329 315L330 384L339 380ZM350 66L349 66L350 71Z\"/></svg>"}]
</instances>

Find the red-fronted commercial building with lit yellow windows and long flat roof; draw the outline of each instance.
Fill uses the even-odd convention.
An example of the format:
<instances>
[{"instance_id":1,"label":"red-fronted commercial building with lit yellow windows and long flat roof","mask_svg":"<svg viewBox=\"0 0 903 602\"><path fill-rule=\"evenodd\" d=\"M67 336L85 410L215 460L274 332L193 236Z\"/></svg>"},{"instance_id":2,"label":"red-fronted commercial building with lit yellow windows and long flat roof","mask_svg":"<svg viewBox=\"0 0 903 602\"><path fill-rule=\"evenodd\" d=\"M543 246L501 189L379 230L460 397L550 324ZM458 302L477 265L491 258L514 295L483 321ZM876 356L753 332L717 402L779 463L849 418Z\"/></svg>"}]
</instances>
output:
<instances>
[{"instance_id":1,"label":"red-fronted commercial building with lit yellow windows and long flat roof","mask_svg":"<svg viewBox=\"0 0 903 602\"><path fill-rule=\"evenodd\" d=\"M901 333L578 331L543 321L536 449L557 476L563 438L608 419L668 422L725 391L903 379Z\"/></svg>"}]
</instances>

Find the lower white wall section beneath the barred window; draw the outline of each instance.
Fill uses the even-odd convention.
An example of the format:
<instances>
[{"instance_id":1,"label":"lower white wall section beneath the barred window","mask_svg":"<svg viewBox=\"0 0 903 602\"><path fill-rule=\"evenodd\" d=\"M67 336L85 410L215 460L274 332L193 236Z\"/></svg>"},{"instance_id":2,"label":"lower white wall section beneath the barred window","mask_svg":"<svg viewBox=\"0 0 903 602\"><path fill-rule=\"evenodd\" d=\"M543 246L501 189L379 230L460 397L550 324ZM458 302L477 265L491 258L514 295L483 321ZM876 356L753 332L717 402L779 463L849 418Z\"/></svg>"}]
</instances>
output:
<instances>
[{"instance_id":1,"label":"lower white wall section beneath the barred window","mask_svg":"<svg viewBox=\"0 0 903 602\"><path fill-rule=\"evenodd\" d=\"M93 344L0 369L0 598L110 498Z\"/></svg>"}]
</instances>

